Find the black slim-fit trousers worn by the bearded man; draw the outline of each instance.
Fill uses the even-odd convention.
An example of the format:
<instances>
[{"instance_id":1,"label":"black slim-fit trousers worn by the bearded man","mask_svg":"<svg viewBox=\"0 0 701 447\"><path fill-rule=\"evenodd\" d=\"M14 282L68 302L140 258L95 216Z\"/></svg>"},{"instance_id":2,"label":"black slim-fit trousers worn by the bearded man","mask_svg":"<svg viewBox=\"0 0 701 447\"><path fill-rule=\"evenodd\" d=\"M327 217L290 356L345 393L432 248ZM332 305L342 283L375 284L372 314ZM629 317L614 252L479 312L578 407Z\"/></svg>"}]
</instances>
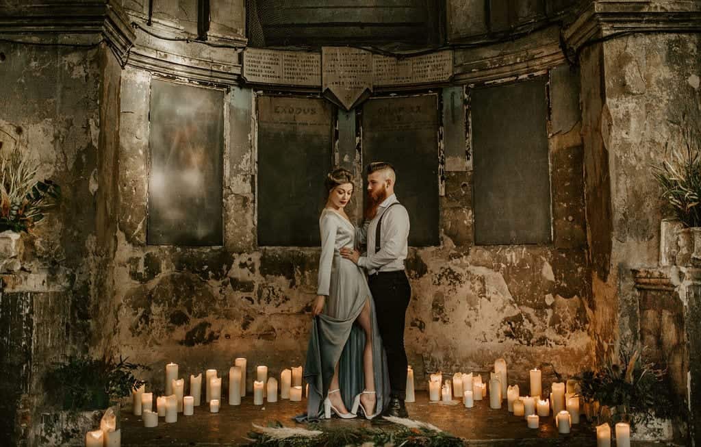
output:
<instances>
[{"instance_id":1,"label":"black slim-fit trousers worn by the bearded man","mask_svg":"<svg viewBox=\"0 0 701 447\"><path fill-rule=\"evenodd\" d=\"M377 325L387 353L390 387L393 397L404 400L407 394L407 351L404 350L404 320L411 299L411 286L404 270L369 275L375 302Z\"/></svg>"}]
</instances>

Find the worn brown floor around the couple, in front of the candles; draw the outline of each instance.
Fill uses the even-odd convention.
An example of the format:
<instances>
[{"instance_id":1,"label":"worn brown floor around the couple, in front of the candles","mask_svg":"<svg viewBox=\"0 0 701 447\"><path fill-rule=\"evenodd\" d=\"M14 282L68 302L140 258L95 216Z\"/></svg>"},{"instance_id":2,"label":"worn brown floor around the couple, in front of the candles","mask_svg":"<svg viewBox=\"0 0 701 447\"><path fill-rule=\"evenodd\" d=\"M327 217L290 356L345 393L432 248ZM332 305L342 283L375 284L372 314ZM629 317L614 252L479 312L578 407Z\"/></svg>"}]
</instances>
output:
<instances>
[{"instance_id":1,"label":"worn brown floor around the couple, in front of the candles","mask_svg":"<svg viewBox=\"0 0 701 447\"><path fill-rule=\"evenodd\" d=\"M558 434L552 418L540 418L539 429L529 429L523 418L517 418L506 410L489 408L489 401L477 401L475 408L465 408L462 403L447 405L430 403L426 392L416 392L416 403L407 404L409 416L431 424L465 439L466 446L596 446L596 434L592 425L583 422L574 425L571 434ZM239 446L247 441L245 436L252 424L267 425L278 420L288 427L304 427L293 420L294 415L306 411L306 400L278 401L264 406L254 406L252 396L243 399L240 406L224 404L219 413L209 413L208 406L195 408L195 414L178 414L178 421L166 424L158 418L158 427L144 428L140 416L128 411L121 413L122 446ZM381 426L391 428L387 422L365 419L322 421L322 424L351 427ZM615 444L615 443L614 443ZM633 443L633 446L660 446L655 443Z\"/></svg>"}]
</instances>

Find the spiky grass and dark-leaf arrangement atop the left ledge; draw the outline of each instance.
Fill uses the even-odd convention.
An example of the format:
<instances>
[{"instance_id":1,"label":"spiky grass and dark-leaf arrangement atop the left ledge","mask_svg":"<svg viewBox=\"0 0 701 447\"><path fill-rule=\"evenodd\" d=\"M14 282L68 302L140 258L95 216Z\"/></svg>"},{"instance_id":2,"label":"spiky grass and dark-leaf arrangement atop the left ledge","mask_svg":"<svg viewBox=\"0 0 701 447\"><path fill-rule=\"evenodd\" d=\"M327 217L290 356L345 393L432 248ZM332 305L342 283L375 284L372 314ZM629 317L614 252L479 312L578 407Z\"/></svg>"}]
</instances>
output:
<instances>
[{"instance_id":1,"label":"spiky grass and dark-leaf arrangement atop the left ledge","mask_svg":"<svg viewBox=\"0 0 701 447\"><path fill-rule=\"evenodd\" d=\"M60 200L61 188L36 180L39 164L14 149L0 161L0 231L29 232Z\"/></svg>"}]
</instances>

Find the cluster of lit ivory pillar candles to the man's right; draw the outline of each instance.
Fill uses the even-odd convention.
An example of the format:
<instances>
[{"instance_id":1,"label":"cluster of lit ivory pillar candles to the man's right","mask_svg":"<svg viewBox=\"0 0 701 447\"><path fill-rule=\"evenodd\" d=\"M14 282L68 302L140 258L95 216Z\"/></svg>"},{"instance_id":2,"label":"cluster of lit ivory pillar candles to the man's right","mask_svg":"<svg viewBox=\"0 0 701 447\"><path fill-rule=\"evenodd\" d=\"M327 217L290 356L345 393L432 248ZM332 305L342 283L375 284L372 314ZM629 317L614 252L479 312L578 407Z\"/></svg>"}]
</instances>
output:
<instances>
[{"instance_id":1,"label":"cluster of lit ivory pillar candles to the man's right","mask_svg":"<svg viewBox=\"0 0 701 447\"><path fill-rule=\"evenodd\" d=\"M531 369L529 385L531 394L520 395L519 385L508 385L505 360L497 359L494 371L489 374L489 383L483 383L482 376L474 373L454 373L452 380L443 380L443 373L439 372L430 375L428 395L431 401L449 402L453 397L462 398L465 408L472 408L475 401L489 397L489 408L498 409L502 408L506 399L508 411L524 418L528 427L533 429L540 426L540 418L550 416L551 410L559 433L569 433L572 425L580 422L579 384L576 380L552 383L549 396L541 399L542 372ZM411 366L407 371L407 401L414 401L414 371ZM597 412L596 406L596 402L593 405L585 403L585 414ZM615 438L617 446L629 447L630 426L625 422L616 424ZM608 424L597 427L597 447L611 447L611 427Z\"/></svg>"}]
</instances>

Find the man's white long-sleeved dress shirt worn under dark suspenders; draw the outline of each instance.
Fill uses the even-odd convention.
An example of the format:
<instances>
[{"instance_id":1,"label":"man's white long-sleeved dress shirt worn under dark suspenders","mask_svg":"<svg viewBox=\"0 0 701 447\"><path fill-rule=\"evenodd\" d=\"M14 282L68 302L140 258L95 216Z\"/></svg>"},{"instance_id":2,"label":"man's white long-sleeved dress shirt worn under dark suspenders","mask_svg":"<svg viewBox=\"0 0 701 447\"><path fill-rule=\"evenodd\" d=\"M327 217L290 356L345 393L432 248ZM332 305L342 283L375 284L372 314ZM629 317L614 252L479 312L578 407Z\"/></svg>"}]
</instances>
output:
<instances>
[{"instance_id":1,"label":"man's white long-sleeved dress shirt worn under dark suspenders","mask_svg":"<svg viewBox=\"0 0 701 447\"><path fill-rule=\"evenodd\" d=\"M383 200L377 209L377 214L371 221L365 221L360 230L360 241L367 241L367 254L360 256L358 266L365 268L369 275L376 272L392 272L404 270L404 259L407 259L409 242L409 213L404 205L395 205L387 209L393 203L398 203L395 194ZM384 216L383 216L384 215ZM380 251L375 253L375 234L377 223L382 217L380 228Z\"/></svg>"}]
</instances>

